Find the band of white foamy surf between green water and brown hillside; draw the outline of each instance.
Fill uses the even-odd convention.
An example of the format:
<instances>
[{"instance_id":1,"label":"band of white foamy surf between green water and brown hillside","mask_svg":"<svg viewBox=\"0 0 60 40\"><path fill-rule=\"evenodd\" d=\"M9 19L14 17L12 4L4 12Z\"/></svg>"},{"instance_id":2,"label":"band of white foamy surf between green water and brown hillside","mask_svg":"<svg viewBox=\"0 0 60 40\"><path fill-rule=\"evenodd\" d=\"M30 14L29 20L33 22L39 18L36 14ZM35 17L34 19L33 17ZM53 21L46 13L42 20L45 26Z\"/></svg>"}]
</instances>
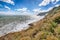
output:
<instances>
[{"instance_id":1,"label":"band of white foamy surf between green water and brown hillside","mask_svg":"<svg viewBox=\"0 0 60 40\"><path fill-rule=\"evenodd\" d=\"M22 23L12 22L12 23L9 23L9 24L5 25L4 27L0 28L0 37L6 35L8 33L25 30L25 29L29 28L28 24L36 22L36 21L44 18L44 16L41 16L41 17L32 16L32 17L34 18L32 20L27 20L26 22L22 22Z\"/></svg>"}]
</instances>

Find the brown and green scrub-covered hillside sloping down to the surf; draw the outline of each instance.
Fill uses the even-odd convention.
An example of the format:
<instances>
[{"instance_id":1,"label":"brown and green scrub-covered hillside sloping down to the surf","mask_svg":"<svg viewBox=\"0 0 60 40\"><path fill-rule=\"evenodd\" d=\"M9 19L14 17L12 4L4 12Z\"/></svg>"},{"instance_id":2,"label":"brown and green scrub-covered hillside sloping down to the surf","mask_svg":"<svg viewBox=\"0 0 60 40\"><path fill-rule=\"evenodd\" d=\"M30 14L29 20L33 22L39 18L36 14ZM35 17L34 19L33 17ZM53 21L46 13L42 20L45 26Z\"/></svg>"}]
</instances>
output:
<instances>
[{"instance_id":1,"label":"brown and green scrub-covered hillside sloping down to the surf","mask_svg":"<svg viewBox=\"0 0 60 40\"><path fill-rule=\"evenodd\" d=\"M60 6L49 11L45 18L29 25L27 30L9 33L0 40L60 40Z\"/></svg>"}]
</instances>

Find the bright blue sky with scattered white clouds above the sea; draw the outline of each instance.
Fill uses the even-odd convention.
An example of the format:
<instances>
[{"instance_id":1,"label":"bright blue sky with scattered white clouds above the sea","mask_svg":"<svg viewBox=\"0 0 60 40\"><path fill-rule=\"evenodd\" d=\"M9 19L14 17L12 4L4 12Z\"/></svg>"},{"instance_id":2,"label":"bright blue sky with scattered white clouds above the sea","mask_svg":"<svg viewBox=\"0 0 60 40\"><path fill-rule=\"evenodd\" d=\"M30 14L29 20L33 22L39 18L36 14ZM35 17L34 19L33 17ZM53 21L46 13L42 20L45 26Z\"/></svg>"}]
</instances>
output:
<instances>
[{"instance_id":1,"label":"bright blue sky with scattered white clouds above the sea","mask_svg":"<svg viewBox=\"0 0 60 40\"><path fill-rule=\"evenodd\" d=\"M37 15L60 5L60 0L0 0L0 15Z\"/></svg>"}]
</instances>

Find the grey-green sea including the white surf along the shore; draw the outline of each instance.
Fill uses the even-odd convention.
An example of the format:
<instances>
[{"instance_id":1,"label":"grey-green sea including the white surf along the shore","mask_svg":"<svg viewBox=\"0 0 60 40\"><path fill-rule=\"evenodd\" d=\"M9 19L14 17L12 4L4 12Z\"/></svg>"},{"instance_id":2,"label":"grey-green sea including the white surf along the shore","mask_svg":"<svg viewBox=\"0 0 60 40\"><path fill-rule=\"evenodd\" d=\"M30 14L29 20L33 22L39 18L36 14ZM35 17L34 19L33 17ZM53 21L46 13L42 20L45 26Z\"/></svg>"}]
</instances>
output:
<instances>
[{"instance_id":1,"label":"grey-green sea including the white surf along the shore","mask_svg":"<svg viewBox=\"0 0 60 40\"><path fill-rule=\"evenodd\" d=\"M0 37L8 33L18 32L29 28L30 23L36 22L44 16L36 15L1 15L0 16Z\"/></svg>"}]
</instances>

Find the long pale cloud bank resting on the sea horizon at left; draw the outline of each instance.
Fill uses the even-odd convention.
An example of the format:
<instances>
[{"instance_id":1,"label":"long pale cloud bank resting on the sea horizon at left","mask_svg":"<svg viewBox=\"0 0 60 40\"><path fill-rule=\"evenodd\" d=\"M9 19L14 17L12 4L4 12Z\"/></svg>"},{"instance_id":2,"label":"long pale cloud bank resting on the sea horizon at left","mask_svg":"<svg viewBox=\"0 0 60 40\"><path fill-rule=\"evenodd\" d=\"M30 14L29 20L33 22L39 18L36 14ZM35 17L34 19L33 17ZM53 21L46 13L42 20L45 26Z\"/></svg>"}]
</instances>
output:
<instances>
[{"instance_id":1,"label":"long pale cloud bank resting on the sea horizon at left","mask_svg":"<svg viewBox=\"0 0 60 40\"><path fill-rule=\"evenodd\" d=\"M5 8L9 10L0 11L0 15L32 15L32 12L27 8L16 9L15 11L11 11L10 8L7 6L5 6Z\"/></svg>"}]
</instances>

